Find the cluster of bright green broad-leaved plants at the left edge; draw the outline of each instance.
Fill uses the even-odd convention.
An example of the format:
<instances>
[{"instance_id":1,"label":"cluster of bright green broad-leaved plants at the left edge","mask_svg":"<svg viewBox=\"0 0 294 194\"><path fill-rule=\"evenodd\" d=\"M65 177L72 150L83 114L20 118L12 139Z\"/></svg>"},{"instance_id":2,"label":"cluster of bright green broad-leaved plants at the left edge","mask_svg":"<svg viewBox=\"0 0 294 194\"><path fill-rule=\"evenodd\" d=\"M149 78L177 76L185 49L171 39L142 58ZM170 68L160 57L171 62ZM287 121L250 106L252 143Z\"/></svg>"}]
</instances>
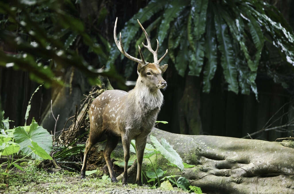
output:
<instances>
[{"instance_id":1,"label":"cluster of bright green broad-leaved plants at the left edge","mask_svg":"<svg viewBox=\"0 0 294 194\"><path fill-rule=\"evenodd\" d=\"M28 106L30 109L30 106ZM26 111L27 113L29 110ZM49 132L38 123L32 120L28 126L19 126L9 129L9 118L4 119L4 111L0 115L0 156L7 156L5 172L1 172L4 176L8 175L9 169L18 168L23 170L17 163L24 158L31 156L32 159L49 159L52 157L49 153L52 151L52 137ZM26 115L27 116L27 115ZM27 117L26 117L27 118ZM14 159L14 155L18 155L18 159Z\"/></svg>"}]
</instances>

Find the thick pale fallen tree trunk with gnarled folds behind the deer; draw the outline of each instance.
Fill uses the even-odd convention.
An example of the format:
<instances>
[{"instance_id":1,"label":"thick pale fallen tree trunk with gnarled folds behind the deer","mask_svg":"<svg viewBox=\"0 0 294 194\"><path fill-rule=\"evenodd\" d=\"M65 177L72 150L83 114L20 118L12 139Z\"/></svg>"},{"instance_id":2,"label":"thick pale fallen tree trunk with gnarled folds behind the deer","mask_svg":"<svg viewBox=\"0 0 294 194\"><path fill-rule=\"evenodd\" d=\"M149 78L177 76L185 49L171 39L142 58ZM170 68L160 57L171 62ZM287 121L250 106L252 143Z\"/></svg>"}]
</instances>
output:
<instances>
[{"instance_id":1,"label":"thick pale fallen tree trunk with gnarled folds behind the deer","mask_svg":"<svg viewBox=\"0 0 294 194\"><path fill-rule=\"evenodd\" d=\"M192 186L201 187L203 193L293 193L293 142L290 148L285 147L283 142L181 135L156 128L150 134L157 139L165 138L183 162L195 165L173 173L186 177ZM147 142L151 143L149 138ZM99 152L104 145L98 144L96 149ZM123 160L121 153L122 146L118 144L111 156ZM157 166L163 171L167 170L167 176L174 167L166 165L166 159L160 156L157 156ZM147 159L143 161L143 172L146 170L150 170ZM136 170L131 172L130 182L136 178Z\"/></svg>"}]
</instances>

